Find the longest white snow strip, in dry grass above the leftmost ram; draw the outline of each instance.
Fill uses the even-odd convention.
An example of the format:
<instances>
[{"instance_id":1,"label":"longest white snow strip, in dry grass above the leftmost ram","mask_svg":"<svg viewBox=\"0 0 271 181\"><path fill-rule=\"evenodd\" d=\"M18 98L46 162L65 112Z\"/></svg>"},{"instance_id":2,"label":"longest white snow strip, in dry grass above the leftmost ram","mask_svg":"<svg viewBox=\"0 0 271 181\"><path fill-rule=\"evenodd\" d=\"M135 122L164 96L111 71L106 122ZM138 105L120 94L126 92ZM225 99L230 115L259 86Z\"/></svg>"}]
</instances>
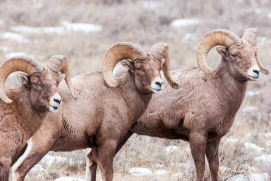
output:
<instances>
[{"instance_id":1,"label":"longest white snow strip, in dry grass above the leftmost ram","mask_svg":"<svg viewBox=\"0 0 271 181\"><path fill-rule=\"evenodd\" d=\"M102 26L94 25L90 23L69 23L67 21L63 21L61 26L57 27L29 27L29 26L12 26L11 30L15 32L22 33L67 33L72 31L79 31L82 33L90 33L90 32L99 32L103 29Z\"/></svg>"}]
</instances>

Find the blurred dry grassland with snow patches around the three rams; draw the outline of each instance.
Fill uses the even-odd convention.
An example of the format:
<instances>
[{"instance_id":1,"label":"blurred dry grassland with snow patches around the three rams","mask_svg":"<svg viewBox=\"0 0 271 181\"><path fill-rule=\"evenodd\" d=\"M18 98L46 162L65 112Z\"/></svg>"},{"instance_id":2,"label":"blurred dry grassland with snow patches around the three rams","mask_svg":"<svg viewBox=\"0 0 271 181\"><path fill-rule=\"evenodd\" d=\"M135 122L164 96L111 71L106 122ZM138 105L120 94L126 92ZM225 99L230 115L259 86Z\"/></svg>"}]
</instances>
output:
<instances>
[{"instance_id":1,"label":"blurred dry grassland with snow patches around the three rams","mask_svg":"<svg viewBox=\"0 0 271 181\"><path fill-rule=\"evenodd\" d=\"M176 70L197 66L196 50L207 32L227 29L241 37L246 28L255 27L261 62L271 70L269 0L2 0L0 15L0 63L25 55L46 64L50 56L62 54L76 76L101 69L103 55L116 42L132 42L146 51L166 42ZM209 65L215 68L220 59L213 48ZM19 85L16 73L6 85ZM219 180L270 180L270 87L270 75L249 82L236 120L220 144ZM26 180L84 179L86 151L49 152ZM193 180L196 175L189 144L181 140L133 135L113 164L114 180ZM205 179L209 176L206 163Z\"/></svg>"}]
</instances>

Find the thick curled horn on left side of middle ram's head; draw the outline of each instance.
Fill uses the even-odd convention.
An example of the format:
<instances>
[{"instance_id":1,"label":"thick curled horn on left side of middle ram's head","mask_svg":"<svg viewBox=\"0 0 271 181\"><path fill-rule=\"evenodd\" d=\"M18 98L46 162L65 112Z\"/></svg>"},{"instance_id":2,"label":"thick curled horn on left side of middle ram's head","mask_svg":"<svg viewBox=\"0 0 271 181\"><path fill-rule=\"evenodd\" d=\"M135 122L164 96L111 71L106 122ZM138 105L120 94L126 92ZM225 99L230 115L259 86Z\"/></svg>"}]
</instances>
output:
<instances>
[{"instance_id":1,"label":"thick curled horn on left side of middle ram's head","mask_svg":"<svg viewBox=\"0 0 271 181\"><path fill-rule=\"evenodd\" d=\"M138 45L130 42L115 43L104 55L102 62L102 73L105 82L110 87L117 87L117 81L113 77L113 69L117 62L122 59L145 60L147 53Z\"/></svg>"}]
</instances>

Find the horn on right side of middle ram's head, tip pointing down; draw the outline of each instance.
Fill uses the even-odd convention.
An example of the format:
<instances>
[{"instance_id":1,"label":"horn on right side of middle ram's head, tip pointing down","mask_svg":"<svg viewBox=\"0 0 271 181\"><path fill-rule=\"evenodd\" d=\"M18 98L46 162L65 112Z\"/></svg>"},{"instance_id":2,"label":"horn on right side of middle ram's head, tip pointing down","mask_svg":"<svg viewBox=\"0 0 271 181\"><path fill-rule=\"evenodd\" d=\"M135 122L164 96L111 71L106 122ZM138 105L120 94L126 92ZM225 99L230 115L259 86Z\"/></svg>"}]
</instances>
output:
<instances>
[{"instance_id":1,"label":"horn on right side of middle ram's head, tip pointing down","mask_svg":"<svg viewBox=\"0 0 271 181\"><path fill-rule=\"evenodd\" d=\"M179 84L173 81L173 78L172 78L168 44L157 43L152 47L152 49L150 50L150 53L158 60L161 60L162 58L165 59L165 63L163 64L163 67L162 67L165 78L167 79L167 81L169 82L172 88L178 89Z\"/></svg>"}]
</instances>

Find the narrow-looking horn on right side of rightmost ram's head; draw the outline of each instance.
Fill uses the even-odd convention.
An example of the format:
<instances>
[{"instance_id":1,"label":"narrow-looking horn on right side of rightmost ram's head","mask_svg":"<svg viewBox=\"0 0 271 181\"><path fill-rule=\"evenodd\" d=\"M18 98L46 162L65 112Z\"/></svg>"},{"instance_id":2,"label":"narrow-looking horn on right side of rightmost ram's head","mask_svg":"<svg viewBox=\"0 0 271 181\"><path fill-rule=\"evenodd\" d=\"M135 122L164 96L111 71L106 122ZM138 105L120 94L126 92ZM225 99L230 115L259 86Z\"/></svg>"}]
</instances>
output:
<instances>
[{"instance_id":1,"label":"narrow-looking horn on right side of rightmost ram's head","mask_svg":"<svg viewBox=\"0 0 271 181\"><path fill-rule=\"evenodd\" d=\"M260 62L259 53L258 53L258 46L257 46L257 30L255 28L248 28L245 30L243 36L243 40L246 40L249 44L256 46L256 62L260 68L260 71L266 75L269 74L269 71L263 67Z\"/></svg>"}]
</instances>

